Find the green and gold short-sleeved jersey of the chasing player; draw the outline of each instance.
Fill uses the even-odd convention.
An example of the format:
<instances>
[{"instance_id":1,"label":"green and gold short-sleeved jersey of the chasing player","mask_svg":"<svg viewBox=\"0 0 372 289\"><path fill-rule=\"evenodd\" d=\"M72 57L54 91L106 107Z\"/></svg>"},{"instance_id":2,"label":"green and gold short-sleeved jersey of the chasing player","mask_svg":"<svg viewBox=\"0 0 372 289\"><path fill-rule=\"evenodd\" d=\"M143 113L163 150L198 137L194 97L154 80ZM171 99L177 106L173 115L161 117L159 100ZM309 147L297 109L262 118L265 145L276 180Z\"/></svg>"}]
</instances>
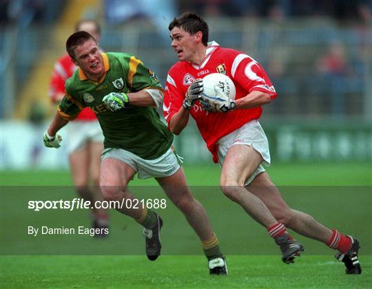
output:
<instances>
[{"instance_id":1,"label":"green and gold short-sleeved jersey of the chasing player","mask_svg":"<svg viewBox=\"0 0 372 289\"><path fill-rule=\"evenodd\" d=\"M111 92L138 92L163 87L151 69L130 54L102 53L105 74L98 83L90 81L79 68L65 83L65 97L57 111L65 120L74 119L83 107L96 114L105 136L105 148L130 151L146 160L162 156L172 144L173 135L154 107L129 105L110 111L102 98Z\"/></svg>"}]
</instances>

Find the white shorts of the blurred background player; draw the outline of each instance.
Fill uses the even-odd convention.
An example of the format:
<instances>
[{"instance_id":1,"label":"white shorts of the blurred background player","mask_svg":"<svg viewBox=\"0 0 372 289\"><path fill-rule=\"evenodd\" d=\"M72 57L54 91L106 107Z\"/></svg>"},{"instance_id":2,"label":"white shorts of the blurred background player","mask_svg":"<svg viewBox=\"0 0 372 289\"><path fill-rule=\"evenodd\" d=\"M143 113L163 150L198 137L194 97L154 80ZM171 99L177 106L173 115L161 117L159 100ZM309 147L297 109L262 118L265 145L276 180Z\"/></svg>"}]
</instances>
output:
<instances>
[{"instance_id":1,"label":"white shorts of the blurred background player","mask_svg":"<svg viewBox=\"0 0 372 289\"><path fill-rule=\"evenodd\" d=\"M83 149L88 142L103 142L104 137L98 120L71 121L66 126L68 153Z\"/></svg>"}]
</instances>

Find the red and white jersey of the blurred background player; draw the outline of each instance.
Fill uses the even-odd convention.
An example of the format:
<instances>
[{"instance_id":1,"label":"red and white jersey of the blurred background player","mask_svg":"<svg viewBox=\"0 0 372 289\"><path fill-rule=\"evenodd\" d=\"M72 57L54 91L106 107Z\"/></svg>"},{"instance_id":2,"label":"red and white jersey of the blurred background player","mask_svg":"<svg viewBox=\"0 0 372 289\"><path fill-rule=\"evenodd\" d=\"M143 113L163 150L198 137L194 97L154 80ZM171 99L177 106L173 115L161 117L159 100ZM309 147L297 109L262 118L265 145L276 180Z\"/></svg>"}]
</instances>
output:
<instances>
[{"instance_id":1,"label":"red and white jersey of the blurred background player","mask_svg":"<svg viewBox=\"0 0 372 289\"><path fill-rule=\"evenodd\" d=\"M57 95L65 94L65 82L74 74L76 69L76 65L71 61L68 54L63 55L56 61L48 92L52 103L59 103L59 100L56 99ZM85 107L74 120L91 121L96 119L92 109Z\"/></svg>"}]
</instances>

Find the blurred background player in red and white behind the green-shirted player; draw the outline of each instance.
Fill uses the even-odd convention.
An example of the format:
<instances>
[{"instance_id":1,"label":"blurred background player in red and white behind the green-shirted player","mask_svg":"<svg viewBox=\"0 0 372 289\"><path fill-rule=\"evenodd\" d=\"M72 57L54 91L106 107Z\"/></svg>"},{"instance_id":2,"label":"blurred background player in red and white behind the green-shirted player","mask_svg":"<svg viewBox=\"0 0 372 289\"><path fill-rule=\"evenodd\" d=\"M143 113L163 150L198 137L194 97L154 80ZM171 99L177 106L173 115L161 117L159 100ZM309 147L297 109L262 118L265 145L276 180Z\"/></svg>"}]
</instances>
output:
<instances>
[{"instance_id":1,"label":"blurred background player in red and white behind the green-shirted player","mask_svg":"<svg viewBox=\"0 0 372 289\"><path fill-rule=\"evenodd\" d=\"M99 41L101 28L93 19L84 19L76 23L76 31L86 31ZM54 105L58 105L65 96L65 81L74 74L77 66L66 53L54 64L54 71L50 80L49 96ZM103 150L103 134L96 115L86 107L68 126L67 150L69 154L70 169L75 189L85 200L103 200L99 191L99 166ZM90 180L92 185L90 186ZM108 226L107 209L92 209L92 227L96 232L106 232ZM103 229L103 230L101 230ZM95 234L96 237L105 237L104 233Z\"/></svg>"}]
</instances>

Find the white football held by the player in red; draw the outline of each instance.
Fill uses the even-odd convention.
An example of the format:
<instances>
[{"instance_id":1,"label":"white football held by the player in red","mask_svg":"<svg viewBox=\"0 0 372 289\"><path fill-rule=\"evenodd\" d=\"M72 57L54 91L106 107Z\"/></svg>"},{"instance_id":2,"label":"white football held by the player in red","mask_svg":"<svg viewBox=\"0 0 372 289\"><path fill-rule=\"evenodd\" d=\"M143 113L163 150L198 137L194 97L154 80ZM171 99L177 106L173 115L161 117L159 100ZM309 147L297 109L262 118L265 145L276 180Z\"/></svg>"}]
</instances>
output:
<instances>
[{"instance_id":1,"label":"white football held by the player in red","mask_svg":"<svg viewBox=\"0 0 372 289\"><path fill-rule=\"evenodd\" d=\"M235 99L236 89L229 76L222 73L208 74L203 78L203 93L205 96L216 96L215 86L218 85L226 96L232 100Z\"/></svg>"}]
</instances>

